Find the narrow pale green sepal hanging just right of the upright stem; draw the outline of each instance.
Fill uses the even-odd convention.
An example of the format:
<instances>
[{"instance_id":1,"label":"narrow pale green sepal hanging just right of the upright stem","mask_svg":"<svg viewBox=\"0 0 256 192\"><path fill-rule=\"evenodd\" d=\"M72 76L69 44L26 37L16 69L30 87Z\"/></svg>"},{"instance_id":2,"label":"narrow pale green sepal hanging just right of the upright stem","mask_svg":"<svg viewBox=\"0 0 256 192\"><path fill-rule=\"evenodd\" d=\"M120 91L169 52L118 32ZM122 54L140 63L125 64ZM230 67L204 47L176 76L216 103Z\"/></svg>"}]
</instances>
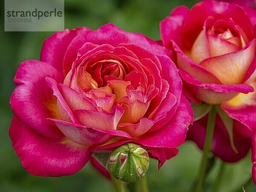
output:
<instances>
[{"instance_id":1,"label":"narrow pale green sepal hanging just right of the upright stem","mask_svg":"<svg viewBox=\"0 0 256 192\"><path fill-rule=\"evenodd\" d=\"M239 151L236 149L235 143L234 143L234 139L233 139L233 122L234 120L232 118L230 118L227 113L225 111L223 111L223 109L221 109L220 105L215 105L216 111L218 113L218 115L221 118L221 121L224 123L226 129L227 129L227 133L229 135L230 138L230 145L233 149L233 151L236 154L239 154Z\"/></svg>"}]
</instances>

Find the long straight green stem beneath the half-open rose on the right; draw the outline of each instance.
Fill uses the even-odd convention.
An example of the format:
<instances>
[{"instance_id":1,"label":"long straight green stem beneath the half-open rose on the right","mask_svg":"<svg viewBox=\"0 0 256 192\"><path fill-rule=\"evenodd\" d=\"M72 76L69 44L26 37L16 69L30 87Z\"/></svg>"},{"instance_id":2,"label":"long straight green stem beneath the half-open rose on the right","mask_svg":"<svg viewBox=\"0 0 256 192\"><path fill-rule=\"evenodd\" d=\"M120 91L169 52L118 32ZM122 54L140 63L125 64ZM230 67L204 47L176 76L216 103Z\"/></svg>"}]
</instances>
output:
<instances>
[{"instance_id":1,"label":"long straight green stem beneath the half-open rose on the right","mask_svg":"<svg viewBox=\"0 0 256 192\"><path fill-rule=\"evenodd\" d=\"M196 192L203 191L205 174L208 166L208 156L209 156L209 151L211 149L212 137L213 137L214 127L215 127L215 118L216 118L215 107L212 107L208 115L207 129L206 129L206 135L204 139L204 152L203 152L203 158L201 161L201 168L198 175L198 183L195 189Z\"/></svg>"}]
</instances>

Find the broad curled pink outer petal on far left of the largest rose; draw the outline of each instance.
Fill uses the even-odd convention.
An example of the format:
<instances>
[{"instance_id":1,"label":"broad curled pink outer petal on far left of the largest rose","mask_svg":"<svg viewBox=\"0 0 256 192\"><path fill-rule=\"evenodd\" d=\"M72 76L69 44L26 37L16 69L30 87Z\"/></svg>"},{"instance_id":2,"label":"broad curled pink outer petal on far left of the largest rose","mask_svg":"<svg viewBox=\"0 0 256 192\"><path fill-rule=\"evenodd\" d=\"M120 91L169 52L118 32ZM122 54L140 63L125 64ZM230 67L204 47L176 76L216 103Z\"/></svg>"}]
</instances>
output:
<instances>
[{"instance_id":1,"label":"broad curled pink outer petal on far left of the largest rose","mask_svg":"<svg viewBox=\"0 0 256 192\"><path fill-rule=\"evenodd\" d=\"M12 111L23 123L48 137L63 137L58 128L46 118L58 117L56 99L45 77L62 80L62 73L41 61L24 61L17 70L12 93Z\"/></svg>"}]
</instances>

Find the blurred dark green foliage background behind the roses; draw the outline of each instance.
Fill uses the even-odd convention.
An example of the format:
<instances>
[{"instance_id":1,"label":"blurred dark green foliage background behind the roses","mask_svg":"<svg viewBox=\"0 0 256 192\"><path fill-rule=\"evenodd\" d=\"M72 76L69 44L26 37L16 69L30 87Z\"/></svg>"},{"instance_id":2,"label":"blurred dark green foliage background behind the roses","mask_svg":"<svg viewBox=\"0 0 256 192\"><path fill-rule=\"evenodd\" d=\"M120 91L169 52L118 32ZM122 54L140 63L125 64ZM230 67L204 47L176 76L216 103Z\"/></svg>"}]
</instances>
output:
<instances>
[{"instance_id":1,"label":"blurred dark green foliage background behind the roses","mask_svg":"<svg viewBox=\"0 0 256 192\"><path fill-rule=\"evenodd\" d=\"M140 32L160 39L159 22L179 5L191 7L193 0L65 0L65 28L87 26L97 29L114 23L128 32ZM26 172L14 154L9 139L12 111L9 98L15 87L13 78L20 62L39 59L44 39L53 32L4 32L4 2L0 5L0 192L113 192L113 186L88 163L75 175L38 177ZM201 151L192 142L180 146L180 154L157 170L151 160L147 173L151 192L189 192L201 160ZM217 159L206 181L210 192L217 177ZM227 164L221 175L220 192L235 192L251 175L250 152L236 164ZM255 192L252 184L246 192ZM242 190L241 190L242 192Z\"/></svg>"}]
</instances>

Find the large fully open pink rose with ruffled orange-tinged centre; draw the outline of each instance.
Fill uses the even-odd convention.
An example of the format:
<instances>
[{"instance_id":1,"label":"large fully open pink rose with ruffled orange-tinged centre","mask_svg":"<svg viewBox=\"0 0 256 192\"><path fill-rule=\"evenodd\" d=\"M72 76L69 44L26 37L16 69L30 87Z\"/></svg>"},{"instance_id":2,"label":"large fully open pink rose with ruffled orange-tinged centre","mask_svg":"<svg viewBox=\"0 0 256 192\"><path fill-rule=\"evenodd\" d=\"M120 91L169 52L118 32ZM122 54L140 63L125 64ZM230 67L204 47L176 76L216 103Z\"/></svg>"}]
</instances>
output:
<instances>
[{"instance_id":1,"label":"large fully open pink rose with ruffled orange-tinged centre","mask_svg":"<svg viewBox=\"0 0 256 192\"><path fill-rule=\"evenodd\" d=\"M45 40L41 60L20 64L10 103L10 137L33 175L79 171L92 152L134 142L159 160L178 153L192 123L182 81L155 41L107 24L81 27Z\"/></svg>"}]
</instances>

